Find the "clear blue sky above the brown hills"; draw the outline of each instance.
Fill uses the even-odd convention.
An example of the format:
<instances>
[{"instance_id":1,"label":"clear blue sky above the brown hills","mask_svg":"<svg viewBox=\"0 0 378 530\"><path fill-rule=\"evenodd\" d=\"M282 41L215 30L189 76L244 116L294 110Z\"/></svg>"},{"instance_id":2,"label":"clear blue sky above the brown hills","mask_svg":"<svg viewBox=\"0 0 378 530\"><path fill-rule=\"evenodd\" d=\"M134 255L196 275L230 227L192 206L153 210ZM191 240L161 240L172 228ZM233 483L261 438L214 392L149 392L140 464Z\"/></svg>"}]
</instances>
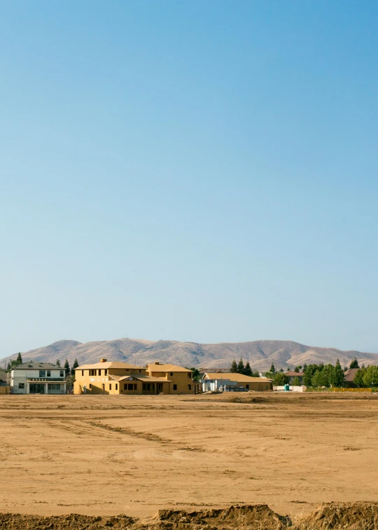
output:
<instances>
[{"instance_id":1,"label":"clear blue sky above the brown hills","mask_svg":"<svg viewBox=\"0 0 378 530\"><path fill-rule=\"evenodd\" d=\"M378 351L376 1L0 7L0 357Z\"/></svg>"}]
</instances>

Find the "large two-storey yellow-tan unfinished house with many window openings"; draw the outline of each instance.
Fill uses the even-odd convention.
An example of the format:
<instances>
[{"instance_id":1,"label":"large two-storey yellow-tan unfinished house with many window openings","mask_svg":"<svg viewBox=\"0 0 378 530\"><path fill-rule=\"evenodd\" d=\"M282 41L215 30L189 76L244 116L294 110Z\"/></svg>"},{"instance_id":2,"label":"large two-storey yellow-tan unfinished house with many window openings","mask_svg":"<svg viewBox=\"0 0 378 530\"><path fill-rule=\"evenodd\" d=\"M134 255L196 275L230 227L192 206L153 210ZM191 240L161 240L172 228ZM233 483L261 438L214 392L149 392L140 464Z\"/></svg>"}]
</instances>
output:
<instances>
[{"instance_id":1,"label":"large two-storey yellow-tan unfinished house with many window openings","mask_svg":"<svg viewBox=\"0 0 378 530\"><path fill-rule=\"evenodd\" d=\"M193 394L200 391L189 369L155 362L147 367L101 359L75 370L74 394Z\"/></svg>"}]
</instances>

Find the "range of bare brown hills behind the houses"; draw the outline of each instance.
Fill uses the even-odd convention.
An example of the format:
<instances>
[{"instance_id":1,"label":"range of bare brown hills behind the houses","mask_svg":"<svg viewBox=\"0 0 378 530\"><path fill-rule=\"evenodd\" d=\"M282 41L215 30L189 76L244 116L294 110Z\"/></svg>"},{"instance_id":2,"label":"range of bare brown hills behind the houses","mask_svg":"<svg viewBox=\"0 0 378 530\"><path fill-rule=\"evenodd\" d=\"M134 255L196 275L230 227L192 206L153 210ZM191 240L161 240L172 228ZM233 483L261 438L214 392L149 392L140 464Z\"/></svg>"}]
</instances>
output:
<instances>
[{"instance_id":1,"label":"range of bare brown hills behind the houses","mask_svg":"<svg viewBox=\"0 0 378 530\"><path fill-rule=\"evenodd\" d=\"M17 354L0 360L0 366ZM172 362L180 366L200 368L228 368L232 359L248 360L253 369L266 371L272 362L276 369L309 365L311 362L332 362L339 358L342 367L350 364L355 357L360 365L378 364L378 353L341 351L336 348L317 348L293 341L251 341L221 342L219 344L198 344L179 341L146 341L143 339L116 339L114 341L86 342L58 341L22 353L23 360L61 363L67 358L72 365L77 358L79 365L98 362L100 358L127 361L134 365L146 365L155 360Z\"/></svg>"}]
</instances>

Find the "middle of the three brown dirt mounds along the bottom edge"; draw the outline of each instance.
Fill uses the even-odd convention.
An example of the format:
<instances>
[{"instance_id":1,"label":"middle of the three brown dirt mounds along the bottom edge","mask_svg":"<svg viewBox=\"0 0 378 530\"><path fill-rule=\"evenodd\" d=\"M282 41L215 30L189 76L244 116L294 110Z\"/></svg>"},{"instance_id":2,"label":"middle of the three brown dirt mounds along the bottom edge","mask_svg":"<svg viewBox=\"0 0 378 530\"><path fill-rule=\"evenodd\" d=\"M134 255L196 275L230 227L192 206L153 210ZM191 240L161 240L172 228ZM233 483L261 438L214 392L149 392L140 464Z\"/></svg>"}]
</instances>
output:
<instances>
[{"instance_id":1,"label":"middle of the three brown dirt mounds along the bottom edge","mask_svg":"<svg viewBox=\"0 0 378 530\"><path fill-rule=\"evenodd\" d=\"M225 510L159 510L153 520L153 529L248 529L281 530L285 522L265 504L230 506Z\"/></svg>"}]
</instances>

